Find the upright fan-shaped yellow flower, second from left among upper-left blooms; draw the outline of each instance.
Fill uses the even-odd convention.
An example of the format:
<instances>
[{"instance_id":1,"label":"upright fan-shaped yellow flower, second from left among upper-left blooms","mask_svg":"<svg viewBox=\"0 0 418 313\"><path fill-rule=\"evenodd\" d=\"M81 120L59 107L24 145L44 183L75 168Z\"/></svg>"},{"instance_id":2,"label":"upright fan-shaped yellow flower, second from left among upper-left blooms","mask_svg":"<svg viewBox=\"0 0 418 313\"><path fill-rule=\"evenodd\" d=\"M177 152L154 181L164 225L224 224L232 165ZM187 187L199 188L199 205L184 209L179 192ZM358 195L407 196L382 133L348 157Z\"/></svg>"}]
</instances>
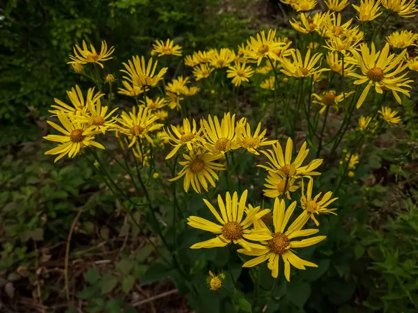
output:
<instances>
[{"instance_id":1,"label":"upright fan-shaped yellow flower, second from left among upper-left blooms","mask_svg":"<svg viewBox=\"0 0 418 313\"><path fill-rule=\"evenodd\" d=\"M168 70L167 67L163 67L162 70L155 75L158 61L155 61L153 66L153 58L150 58L148 65L146 65L144 56L141 56L141 60L139 59L139 56L132 56L132 61L129 60L127 63L122 64L125 66L126 70L121 70L121 72L128 75L128 77L123 78L139 88L157 85Z\"/></svg>"}]
</instances>

